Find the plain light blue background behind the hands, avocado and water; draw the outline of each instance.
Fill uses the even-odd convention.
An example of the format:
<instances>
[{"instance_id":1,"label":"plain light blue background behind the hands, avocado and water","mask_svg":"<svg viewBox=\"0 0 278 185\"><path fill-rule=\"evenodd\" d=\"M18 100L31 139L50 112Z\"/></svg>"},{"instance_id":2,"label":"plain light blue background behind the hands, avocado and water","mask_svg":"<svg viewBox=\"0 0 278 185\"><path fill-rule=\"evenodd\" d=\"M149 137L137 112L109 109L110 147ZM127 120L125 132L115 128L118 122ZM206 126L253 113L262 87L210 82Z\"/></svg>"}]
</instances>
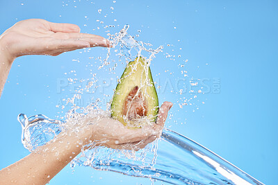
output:
<instances>
[{"instance_id":1,"label":"plain light blue background behind the hands, avocado and water","mask_svg":"<svg viewBox=\"0 0 278 185\"><path fill-rule=\"evenodd\" d=\"M138 34L140 29L136 39L154 47L164 46L151 67L154 80L162 86L158 90L160 103L163 100L174 103L166 127L197 141L261 182L276 184L277 10L277 1L1 1L0 33L17 21L30 18L77 24L84 33L104 37L107 30L118 32L124 24L130 25L131 35ZM106 25L115 28L104 28ZM58 57L24 56L15 60L0 99L0 168L29 153L20 140L19 113L63 116L64 112L56 105L61 98L72 97L73 92L69 85L58 93L58 79L74 77L74 73L69 73L71 70L80 79L91 78L92 69L99 82L110 79L109 75L115 81L122 74L121 62L113 74L109 67L97 70L98 60L89 58L105 56L106 52L95 48ZM166 53L172 56L166 58ZM117 61L117 57L111 58ZM181 71L188 71L188 77ZM190 87L191 78L199 82L197 87ZM113 80L108 87L85 96L104 98L103 94L108 94L108 99L111 98ZM179 80L185 86L179 84L176 88ZM190 88L201 87L204 93L189 93ZM183 94L179 94L181 88ZM192 98L192 105L180 108L182 98ZM85 167L74 170L72 173L67 166L51 184L151 183L149 179Z\"/></svg>"}]
</instances>

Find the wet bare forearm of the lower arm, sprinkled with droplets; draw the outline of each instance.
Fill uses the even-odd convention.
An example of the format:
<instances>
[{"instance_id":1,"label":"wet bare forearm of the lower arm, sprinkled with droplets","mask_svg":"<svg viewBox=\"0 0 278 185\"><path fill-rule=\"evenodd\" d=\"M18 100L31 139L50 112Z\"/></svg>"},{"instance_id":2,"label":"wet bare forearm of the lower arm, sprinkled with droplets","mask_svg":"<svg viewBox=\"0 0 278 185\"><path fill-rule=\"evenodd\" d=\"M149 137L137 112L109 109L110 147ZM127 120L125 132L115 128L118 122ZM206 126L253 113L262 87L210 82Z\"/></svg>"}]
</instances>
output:
<instances>
[{"instance_id":1,"label":"wet bare forearm of the lower arm, sprinkled with droplets","mask_svg":"<svg viewBox=\"0 0 278 185\"><path fill-rule=\"evenodd\" d=\"M88 144L88 132L59 134L56 141L47 143L0 171L0 184L47 184Z\"/></svg>"}]
</instances>

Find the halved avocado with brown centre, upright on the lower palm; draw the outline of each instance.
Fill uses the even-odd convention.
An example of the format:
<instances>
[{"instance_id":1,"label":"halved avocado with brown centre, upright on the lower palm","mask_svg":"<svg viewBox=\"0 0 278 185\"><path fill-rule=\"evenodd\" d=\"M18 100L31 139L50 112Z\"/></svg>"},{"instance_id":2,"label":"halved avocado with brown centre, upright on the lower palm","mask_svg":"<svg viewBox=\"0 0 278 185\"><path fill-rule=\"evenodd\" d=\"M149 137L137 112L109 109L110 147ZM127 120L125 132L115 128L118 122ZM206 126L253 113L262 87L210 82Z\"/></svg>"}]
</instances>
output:
<instances>
[{"instance_id":1,"label":"halved avocado with brown centre, upright on the lower palm","mask_svg":"<svg viewBox=\"0 0 278 185\"><path fill-rule=\"evenodd\" d=\"M155 123L158 96L151 69L141 57L127 64L111 103L112 117L128 127Z\"/></svg>"}]
</instances>

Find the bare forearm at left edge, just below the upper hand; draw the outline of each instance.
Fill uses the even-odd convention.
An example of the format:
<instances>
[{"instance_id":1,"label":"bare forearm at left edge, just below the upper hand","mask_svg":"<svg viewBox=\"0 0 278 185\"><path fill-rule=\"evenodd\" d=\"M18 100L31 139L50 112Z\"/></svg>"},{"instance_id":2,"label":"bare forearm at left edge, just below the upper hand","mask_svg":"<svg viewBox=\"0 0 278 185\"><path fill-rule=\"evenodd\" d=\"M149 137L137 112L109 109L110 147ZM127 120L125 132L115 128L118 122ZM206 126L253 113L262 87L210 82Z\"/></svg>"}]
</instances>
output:
<instances>
[{"instance_id":1,"label":"bare forearm at left edge, just below the upper hand","mask_svg":"<svg viewBox=\"0 0 278 185\"><path fill-rule=\"evenodd\" d=\"M3 43L0 36L0 97L3 91L3 87L8 78L8 73L10 72L10 67L12 67L15 58L8 54L7 48Z\"/></svg>"}]
</instances>

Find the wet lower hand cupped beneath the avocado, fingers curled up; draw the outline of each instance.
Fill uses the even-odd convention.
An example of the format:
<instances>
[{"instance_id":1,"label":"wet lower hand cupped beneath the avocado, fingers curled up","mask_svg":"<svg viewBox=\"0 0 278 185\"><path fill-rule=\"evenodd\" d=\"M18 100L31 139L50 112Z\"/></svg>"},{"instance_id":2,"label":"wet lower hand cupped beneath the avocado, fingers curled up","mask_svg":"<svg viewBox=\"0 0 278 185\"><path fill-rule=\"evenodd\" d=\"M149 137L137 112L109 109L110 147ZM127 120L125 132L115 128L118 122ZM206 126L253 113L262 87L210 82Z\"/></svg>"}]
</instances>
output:
<instances>
[{"instance_id":1,"label":"wet lower hand cupped beneath the avocado, fingers curled up","mask_svg":"<svg viewBox=\"0 0 278 185\"><path fill-rule=\"evenodd\" d=\"M120 121L102 118L92 125L91 140L97 142L97 145L108 148L126 150L145 148L148 143L161 136L167 113L172 105L170 102L163 103L159 109L156 124L137 129L128 129Z\"/></svg>"}]
</instances>

